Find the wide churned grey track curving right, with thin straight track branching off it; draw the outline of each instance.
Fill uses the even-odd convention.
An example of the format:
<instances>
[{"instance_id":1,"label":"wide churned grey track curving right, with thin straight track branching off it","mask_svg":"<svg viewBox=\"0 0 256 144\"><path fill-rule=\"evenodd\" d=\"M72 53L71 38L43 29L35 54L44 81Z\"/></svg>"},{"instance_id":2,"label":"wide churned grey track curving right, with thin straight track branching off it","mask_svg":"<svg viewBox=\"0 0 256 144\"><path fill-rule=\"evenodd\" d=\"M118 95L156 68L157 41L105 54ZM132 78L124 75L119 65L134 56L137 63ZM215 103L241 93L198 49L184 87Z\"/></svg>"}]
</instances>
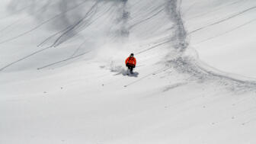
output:
<instances>
[{"instance_id":1,"label":"wide churned grey track curving right, with thin straight track branching off it","mask_svg":"<svg viewBox=\"0 0 256 144\"><path fill-rule=\"evenodd\" d=\"M245 11L241 11L238 14L233 14L232 16L222 19L221 21L217 21L214 24L219 24L223 21L227 21L231 18L235 18L236 16L243 14L247 11L251 11L254 8L256 7L254 6L246 9ZM179 49L176 55L180 55L178 56L178 58L171 59L168 61L168 64L170 64L170 66L173 66L176 70L178 70L178 72L187 73L203 81L206 81L207 79L215 79L217 82L229 83L229 85L231 85L230 90L235 91L236 89L242 90L244 88L245 89L248 88L249 91L255 90L256 88L255 81L241 80L239 78L230 77L228 75L222 75L221 72L212 72L210 70L210 67L208 68L206 66L204 67L201 66L200 63L197 62L198 58L190 59L182 56L182 53L187 49L188 43L186 40L187 32L184 28L184 22L181 18L180 8L178 8L178 1L168 1L168 12L171 15L171 21L174 21L174 28L177 29L175 30L175 33L172 39L174 39L175 40L174 42L176 42L174 44L174 48ZM214 24L210 24L206 27L210 27ZM197 30L202 30L203 28L206 28L206 27L201 27L200 29L197 29ZM192 31L189 34L192 34L197 30Z\"/></svg>"}]
</instances>

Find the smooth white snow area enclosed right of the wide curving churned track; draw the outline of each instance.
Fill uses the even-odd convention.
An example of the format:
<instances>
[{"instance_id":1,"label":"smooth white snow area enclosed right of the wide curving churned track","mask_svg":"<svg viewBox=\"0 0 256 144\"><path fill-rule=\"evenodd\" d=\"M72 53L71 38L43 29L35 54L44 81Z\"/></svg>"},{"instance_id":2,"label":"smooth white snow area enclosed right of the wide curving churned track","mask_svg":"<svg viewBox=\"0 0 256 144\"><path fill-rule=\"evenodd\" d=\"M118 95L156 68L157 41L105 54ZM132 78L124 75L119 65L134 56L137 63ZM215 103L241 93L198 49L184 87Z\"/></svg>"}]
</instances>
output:
<instances>
[{"instance_id":1,"label":"smooth white snow area enclosed right of the wide curving churned track","mask_svg":"<svg viewBox=\"0 0 256 144\"><path fill-rule=\"evenodd\" d=\"M217 69L255 78L256 2L184 1L190 46ZM242 68L242 69L241 69Z\"/></svg>"}]
</instances>

